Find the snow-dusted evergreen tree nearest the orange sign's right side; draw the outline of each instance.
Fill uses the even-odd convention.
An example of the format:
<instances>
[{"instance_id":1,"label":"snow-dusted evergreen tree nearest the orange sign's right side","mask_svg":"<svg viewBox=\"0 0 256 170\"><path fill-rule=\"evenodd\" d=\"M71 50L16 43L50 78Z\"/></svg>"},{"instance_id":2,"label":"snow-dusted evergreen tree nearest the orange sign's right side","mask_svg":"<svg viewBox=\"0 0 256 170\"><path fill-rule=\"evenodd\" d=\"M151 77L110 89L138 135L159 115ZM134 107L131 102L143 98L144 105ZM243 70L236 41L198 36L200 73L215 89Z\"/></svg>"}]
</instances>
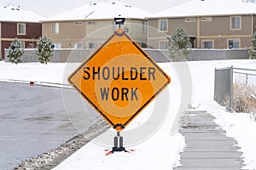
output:
<instances>
[{"instance_id":1,"label":"snow-dusted evergreen tree nearest the orange sign's right side","mask_svg":"<svg viewBox=\"0 0 256 170\"><path fill-rule=\"evenodd\" d=\"M169 51L173 61L187 59L191 51L189 50L189 36L183 27L177 27L176 31L173 33Z\"/></svg>"}]
</instances>

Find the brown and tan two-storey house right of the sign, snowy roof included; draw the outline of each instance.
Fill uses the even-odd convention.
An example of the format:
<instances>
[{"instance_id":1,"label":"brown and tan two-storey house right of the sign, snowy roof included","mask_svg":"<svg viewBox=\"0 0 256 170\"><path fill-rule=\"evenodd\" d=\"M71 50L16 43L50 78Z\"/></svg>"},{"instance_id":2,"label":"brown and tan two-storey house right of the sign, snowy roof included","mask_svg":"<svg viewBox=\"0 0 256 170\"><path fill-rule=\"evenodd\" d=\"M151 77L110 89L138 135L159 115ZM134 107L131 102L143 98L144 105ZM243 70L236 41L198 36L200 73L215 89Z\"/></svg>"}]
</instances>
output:
<instances>
[{"instance_id":1,"label":"brown and tan two-storey house right of the sign, snowy roof included","mask_svg":"<svg viewBox=\"0 0 256 170\"><path fill-rule=\"evenodd\" d=\"M192 0L148 17L148 44L167 48L182 26L191 48L248 48L256 31L256 4L246 0Z\"/></svg>"}]
</instances>

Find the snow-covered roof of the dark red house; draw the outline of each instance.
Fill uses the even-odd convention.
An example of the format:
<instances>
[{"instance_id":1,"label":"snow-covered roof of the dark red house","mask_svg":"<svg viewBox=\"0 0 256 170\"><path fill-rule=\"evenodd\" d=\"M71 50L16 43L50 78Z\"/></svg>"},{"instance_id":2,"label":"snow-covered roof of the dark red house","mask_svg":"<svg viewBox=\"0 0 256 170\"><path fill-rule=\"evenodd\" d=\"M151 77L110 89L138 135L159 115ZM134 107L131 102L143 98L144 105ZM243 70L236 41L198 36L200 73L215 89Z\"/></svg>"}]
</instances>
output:
<instances>
[{"instance_id":1,"label":"snow-covered roof of the dark red house","mask_svg":"<svg viewBox=\"0 0 256 170\"><path fill-rule=\"evenodd\" d=\"M39 22L39 20L43 20L43 17L13 5L0 7L0 21Z\"/></svg>"}]
</instances>

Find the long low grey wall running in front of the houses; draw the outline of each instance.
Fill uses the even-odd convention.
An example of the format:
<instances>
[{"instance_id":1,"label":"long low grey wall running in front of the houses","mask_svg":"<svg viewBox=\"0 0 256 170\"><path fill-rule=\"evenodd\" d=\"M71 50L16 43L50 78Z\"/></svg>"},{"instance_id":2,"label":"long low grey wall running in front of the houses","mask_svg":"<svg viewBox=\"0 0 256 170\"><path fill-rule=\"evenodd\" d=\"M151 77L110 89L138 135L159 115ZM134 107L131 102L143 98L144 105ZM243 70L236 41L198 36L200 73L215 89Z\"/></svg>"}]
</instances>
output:
<instances>
[{"instance_id":1,"label":"long low grey wall running in front of the houses","mask_svg":"<svg viewBox=\"0 0 256 170\"><path fill-rule=\"evenodd\" d=\"M164 49L144 49L145 52L156 62L170 61L166 57L169 55L168 50ZM7 56L9 49L5 49ZM54 55L51 62L82 62L86 59L93 49L54 49ZM36 49L25 49L23 62L38 62ZM189 61L195 60L219 60L219 59L249 59L248 49L192 49L188 55ZM9 61L5 57L6 61Z\"/></svg>"}]
</instances>

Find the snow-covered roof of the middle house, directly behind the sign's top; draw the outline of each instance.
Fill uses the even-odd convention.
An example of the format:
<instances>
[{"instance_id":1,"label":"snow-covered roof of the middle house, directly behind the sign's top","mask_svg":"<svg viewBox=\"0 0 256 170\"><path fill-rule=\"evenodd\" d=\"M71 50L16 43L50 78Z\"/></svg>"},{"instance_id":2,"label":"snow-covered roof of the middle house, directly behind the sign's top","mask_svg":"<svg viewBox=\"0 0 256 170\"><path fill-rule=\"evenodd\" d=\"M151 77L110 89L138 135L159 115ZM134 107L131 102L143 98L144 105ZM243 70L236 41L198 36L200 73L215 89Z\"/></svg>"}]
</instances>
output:
<instances>
[{"instance_id":1,"label":"snow-covered roof of the middle house, directly behind the sign's top","mask_svg":"<svg viewBox=\"0 0 256 170\"><path fill-rule=\"evenodd\" d=\"M101 20L113 19L114 17L125 17L133 19L144 19L151 16L146 11L136 8L127 3L101 2L90 3L79 8L73 8L61 14L56 14L44 21L51 20Z\"/></svg>"}]
</instances>

